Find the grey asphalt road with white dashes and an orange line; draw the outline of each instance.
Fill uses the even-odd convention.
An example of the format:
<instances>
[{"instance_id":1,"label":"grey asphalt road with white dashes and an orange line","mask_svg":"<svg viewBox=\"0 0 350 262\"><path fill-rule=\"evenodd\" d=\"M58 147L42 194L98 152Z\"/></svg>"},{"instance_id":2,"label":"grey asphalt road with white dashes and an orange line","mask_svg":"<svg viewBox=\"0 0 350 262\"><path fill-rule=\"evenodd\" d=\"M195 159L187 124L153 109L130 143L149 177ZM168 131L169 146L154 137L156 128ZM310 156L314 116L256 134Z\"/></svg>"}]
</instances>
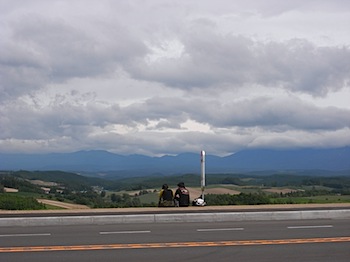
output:
<instances>
[{"instance_id":1,"label":"grey asphalt road with white dashes and an orange line","mask_svg":"<svg viewBox=\"0 0 350 262\"><path fill-rule=\"evenodd\" d=\"M349 261L348 219L0 228L0 261Z\"/></svg>"}]
</instances>

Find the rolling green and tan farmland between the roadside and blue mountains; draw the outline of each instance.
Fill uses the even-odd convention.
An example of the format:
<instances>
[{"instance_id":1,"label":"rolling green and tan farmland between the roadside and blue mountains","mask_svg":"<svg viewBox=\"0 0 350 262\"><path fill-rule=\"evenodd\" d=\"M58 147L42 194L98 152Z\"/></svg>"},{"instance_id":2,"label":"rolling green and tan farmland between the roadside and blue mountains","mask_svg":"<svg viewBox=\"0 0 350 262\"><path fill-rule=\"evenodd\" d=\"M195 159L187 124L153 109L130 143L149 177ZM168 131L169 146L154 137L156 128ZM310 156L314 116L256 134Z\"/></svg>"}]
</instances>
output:
<instances>
[{"instance_id":1,"label":"rolling green and tan farmland between the roadside and blue mountains","mask_svg":"<svg viewBox=\"0 0 350 262\"><path fill-rule=\"evenodd\" d=\"M104 180L58 171L4 173L0 209L156 207L161 185L184 181L191 201L201 196L194 174ZM2 191L2 192L1 192ZM208 176L209 206L350 203L349 176L216 174Z\"/></svg>"}]
</instances>

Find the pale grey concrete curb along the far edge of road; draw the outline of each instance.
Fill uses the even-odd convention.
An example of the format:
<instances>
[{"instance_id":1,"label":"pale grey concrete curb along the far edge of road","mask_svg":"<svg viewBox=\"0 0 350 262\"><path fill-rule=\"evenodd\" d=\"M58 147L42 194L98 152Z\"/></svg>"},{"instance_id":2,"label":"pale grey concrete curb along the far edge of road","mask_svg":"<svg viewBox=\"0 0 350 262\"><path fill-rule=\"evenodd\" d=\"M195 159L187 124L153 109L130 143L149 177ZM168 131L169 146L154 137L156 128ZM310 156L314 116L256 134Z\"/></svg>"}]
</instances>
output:
<instances>
[{"instance_id":1,"label":"pale grey concrete curb along the far edge of road","mask_svg":"<svg viewBox=\"0 0 350 262\"><path fill-rule=\"evenodd\" d=\"M212 212L0 218L0 227L108 225L126 223L229 222L298 219L350 219L350 209L263 212Z\"/></svg>"}]
</instances>

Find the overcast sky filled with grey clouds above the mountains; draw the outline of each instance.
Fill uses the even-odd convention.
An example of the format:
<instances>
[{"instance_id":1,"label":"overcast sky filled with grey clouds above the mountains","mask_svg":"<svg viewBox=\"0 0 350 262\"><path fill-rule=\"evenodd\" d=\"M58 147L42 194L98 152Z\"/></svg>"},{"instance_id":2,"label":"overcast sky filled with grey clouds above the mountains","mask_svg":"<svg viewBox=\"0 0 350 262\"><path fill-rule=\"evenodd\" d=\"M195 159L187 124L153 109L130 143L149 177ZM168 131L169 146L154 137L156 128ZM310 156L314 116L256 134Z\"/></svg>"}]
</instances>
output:
<instances>
[{"instance_id":1,"label":"overcast sky filled with grey clouds above the mountains","mask_svg":"<svg viewBox=\"0 0 350 262\"><path fill-rule=\"evenodd\" d=\"M350 1L0 0L0 153L350 146Z\"/></svg>"}]
</instances>

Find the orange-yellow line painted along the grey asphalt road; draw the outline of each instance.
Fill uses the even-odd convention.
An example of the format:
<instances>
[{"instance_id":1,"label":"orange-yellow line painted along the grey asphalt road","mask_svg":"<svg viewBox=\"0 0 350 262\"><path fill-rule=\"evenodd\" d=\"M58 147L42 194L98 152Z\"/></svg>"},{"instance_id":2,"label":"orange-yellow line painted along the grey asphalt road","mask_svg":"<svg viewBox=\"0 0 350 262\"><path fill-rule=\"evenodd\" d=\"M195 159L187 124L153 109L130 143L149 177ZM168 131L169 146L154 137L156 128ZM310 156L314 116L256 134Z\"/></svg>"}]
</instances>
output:
<instances>
[{"instance_id":1,"label":"orange-yellow line painted along the grey asphalt road","mask_svg":"<svg viewBox=\"0 0 350 262\"><path fill-rule=\"evenodd\" d=\"M174 242L174 243L145 243L145 244L102 244L75 246L28 246L28 247L0 247L0 253L13 252L47 252L47 251L87 251L108 249L140 249L140 248L173 248L173 247L219 247L219 246L252 246L252 245L288 245L311 243L339 243L350 242L350 237L328 238L300 238L279 240L232 240L210 242Z\"/></svg>"}]
</instances>

